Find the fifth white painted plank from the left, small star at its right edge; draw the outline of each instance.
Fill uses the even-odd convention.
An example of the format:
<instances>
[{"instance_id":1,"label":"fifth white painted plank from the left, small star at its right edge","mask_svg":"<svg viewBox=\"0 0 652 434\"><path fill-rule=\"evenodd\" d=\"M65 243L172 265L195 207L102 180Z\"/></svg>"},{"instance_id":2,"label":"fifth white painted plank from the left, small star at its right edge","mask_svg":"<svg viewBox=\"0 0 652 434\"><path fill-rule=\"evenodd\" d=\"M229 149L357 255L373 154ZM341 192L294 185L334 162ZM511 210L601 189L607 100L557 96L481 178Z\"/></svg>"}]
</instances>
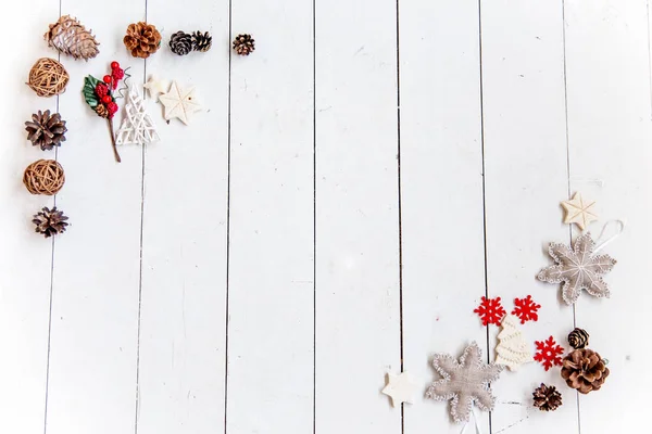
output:
<instances>
[{"instance_id":1,"label":"fifth white painted plank from the left, small star at its right edge","mask_svg":"<svg viewBox=\"0 0 652 434\"><path fill-rule=\"evenodd\" d=\"M316 431L399 433L396 2L316 2ZM373 18L371 18L373 16Z\"/></svg>"}]
</instances>

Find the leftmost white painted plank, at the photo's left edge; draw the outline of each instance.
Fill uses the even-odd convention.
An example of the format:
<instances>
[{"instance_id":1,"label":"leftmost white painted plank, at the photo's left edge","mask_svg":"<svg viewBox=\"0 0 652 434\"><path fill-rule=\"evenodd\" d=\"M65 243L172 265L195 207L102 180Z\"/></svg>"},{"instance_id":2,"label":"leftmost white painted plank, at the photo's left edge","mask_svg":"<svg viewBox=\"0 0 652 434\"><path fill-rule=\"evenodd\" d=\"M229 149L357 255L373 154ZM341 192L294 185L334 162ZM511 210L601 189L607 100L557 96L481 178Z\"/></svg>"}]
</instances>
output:
<instances>
[{"instance_id":1,"label":"leftmost white painted plank, at the photo's left edge","mask_svg":"<svg viewBox=\"0 0 652 434\"><path fill-rule=\"evenodd\" d=\"M59 1L16 3L13 13L32 16L34 9L42 15L4 24L5 34L22 42L0 66L5 85L0 106L4 133L0 146L0 346L5 355L0 359L0 432L26 434L43 430L52 256L52 242L34 233L32 216L43 206L51 207L53 201L29 194L22 178L28 164L53 158L54 151L33 146L23 123L38 110L57 111L57 98L39 98L23 82L37 59L57 59L42 34L48 17L59 16Z\"/></svg>"}]
</instances>

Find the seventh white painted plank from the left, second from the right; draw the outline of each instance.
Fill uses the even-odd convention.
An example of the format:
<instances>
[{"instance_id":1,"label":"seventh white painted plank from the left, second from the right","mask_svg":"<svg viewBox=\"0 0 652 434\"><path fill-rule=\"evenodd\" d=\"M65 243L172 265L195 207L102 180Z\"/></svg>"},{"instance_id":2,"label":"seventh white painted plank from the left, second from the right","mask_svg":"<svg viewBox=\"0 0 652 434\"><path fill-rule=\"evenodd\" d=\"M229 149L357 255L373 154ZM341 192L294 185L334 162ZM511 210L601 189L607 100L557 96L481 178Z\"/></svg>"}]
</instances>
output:
<instances>
[{"instance_id":1,"label":"seventh white painted plank from the left, second from the right","mask_svg":"<svg viewBox=\"0 0 652 434\"><path fill-rule=\"evenodd\" d=\"M568 240L560 202L567 197L563 16L554 2L482 1L482 74L487 269L491 297L509 312L514 298L531 295L539 320L521 327L530 348L550 335L567 346L573 309L560 303L559 285L537 282L551 259L548 243ZM491 357L496 334L491 327ZM546 413L531 393L543 382L560 388L564 406ZM538 362L505 371L494 385L499 404L492 432L577 432L576 394L560 369ZM519 403L519 405L507 404Z\"/></svg>"}]
</instances>

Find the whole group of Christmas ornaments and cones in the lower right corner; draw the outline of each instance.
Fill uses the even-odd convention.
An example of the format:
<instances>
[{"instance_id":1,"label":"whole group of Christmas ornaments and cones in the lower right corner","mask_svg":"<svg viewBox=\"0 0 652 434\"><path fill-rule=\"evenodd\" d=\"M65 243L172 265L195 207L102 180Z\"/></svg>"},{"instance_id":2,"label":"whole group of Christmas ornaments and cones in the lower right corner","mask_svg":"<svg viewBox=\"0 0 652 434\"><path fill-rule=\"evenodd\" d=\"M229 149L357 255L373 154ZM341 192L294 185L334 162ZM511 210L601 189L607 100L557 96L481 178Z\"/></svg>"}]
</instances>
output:
<instances>
[{"instance_id":1,"label":"whole group of Christmas ornaments and cones in the lower right corner","mask_svg":"<svg viewBox=\"0 0 652 434\"><path fill-rule=\"evenodd\" d=\"M598 219L593 208L595 203L586 201L580 193L572 200L562 202L565 212L564 222L577 225L580 230ZM609 297L610 289L603 276L611 271L616 260L598 252L605 245L595 246L590 233L577 237L569 246L551 243L549 254L554 265L543 268L537 279L542 282L561 284L562 298L565 304L573 305L582 290L595 297ZM531 295L514 299L514 309L507 314L502 306L501 297L481 297L480 305L474 309L482 326L500 326L496 361L488 363L482 353L473 342L456 359L448 354L436 354L432 367L441 376L426 390L426 397L435 400L450 400L451 417L455 422L469 422L473 407L491 411L496 397L491 393L490 383L497 381L506 367L510 371L518 370L524 363L538 361L546 371L560 367L560 375L567 386L581 394L599 391L606 381L610 370L607 360L588 348L589 334L576 328L568 334L568 345L573 348L564 355L564 348L553 336L535 341L536 353L532 355L530 343L525 339L521 326L539 319L541 305ZM408 372L399 375L388 374L388 384L383 393L390 396L394 406L412 403L418 390L417 381ZM532 406L541 411L554 411L562 405L562 394L553 385L541 383L532 392Z\"/></svg>"}]
</instances>

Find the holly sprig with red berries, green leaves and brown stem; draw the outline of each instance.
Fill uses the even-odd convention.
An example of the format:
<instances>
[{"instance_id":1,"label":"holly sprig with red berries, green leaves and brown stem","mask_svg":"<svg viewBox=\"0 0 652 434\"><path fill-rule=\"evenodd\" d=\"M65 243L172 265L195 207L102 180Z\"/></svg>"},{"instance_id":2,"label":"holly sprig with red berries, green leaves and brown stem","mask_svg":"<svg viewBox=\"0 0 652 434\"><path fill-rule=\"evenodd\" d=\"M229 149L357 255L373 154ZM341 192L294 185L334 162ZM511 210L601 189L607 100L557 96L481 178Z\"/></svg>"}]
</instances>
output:
<instances>
[{"instance_id":1,"label":"holly sprig with red berries, green leaves and brown stem","mask_svg":"<svg viewBox=\"0 0 652 434\"><path fill-rule=\"evenodd\" d=\"M125 78L125 71L120 67L117 62L111 62L111 74L98 80L89 75L84 79L84 89L82 93L86 103L109 123L109 131L111 132L111 144L113 145L113 155L116 162L121 162L120 154L115 146L115 137L113 135L113 116L117 113L118 106L115 102L117 98L114 93L120 81ZM120 94L120 91L117 92Z\"/></svg>"}]
</instances>

